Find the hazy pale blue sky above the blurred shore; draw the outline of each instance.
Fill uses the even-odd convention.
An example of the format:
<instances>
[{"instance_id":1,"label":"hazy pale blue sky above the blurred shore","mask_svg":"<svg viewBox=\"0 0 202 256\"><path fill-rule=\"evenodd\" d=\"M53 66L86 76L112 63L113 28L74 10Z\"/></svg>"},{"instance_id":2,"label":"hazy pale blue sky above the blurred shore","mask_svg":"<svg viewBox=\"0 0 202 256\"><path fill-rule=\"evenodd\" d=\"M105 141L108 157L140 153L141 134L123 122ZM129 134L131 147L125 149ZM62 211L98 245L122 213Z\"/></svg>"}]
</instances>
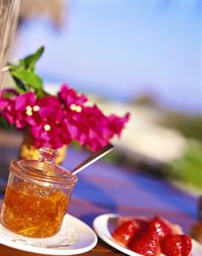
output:
<instances>
[{"instance_id":1,"label":"hazy pale blue sky above the blurred shore","mask_svg":"<svg viewBox=\"0 0 202 256\"><path fill-rule=\"evenodd\" d=\"M200 1L70 1L60 31L25 22L15 57L40 45L47 82L129 101L141 93L170 108L201 108Z\"/></svg>"}]
</instances>

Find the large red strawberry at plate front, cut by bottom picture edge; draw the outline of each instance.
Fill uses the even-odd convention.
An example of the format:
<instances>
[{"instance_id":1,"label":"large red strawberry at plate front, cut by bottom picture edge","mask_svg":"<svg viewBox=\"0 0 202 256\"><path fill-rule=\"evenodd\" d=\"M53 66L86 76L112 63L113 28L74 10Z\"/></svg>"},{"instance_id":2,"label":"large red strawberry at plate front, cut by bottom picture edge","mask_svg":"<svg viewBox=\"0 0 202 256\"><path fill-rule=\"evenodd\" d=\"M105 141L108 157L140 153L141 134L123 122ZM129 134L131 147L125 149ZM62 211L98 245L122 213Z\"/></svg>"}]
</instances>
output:
<instances>
[{"instance_id":1,"label":"large red strawberry at plate front, cut by bottom picture edge","mask_svg":"<svg viewBox=\"0 0 202 256\"><path fill-rule=\"evenodd\" d=\"M144 256L159 256L161 254L157 232L153 230L148 230L144 235L135 238L129 248Z\"/></svg>"}]
</instances>

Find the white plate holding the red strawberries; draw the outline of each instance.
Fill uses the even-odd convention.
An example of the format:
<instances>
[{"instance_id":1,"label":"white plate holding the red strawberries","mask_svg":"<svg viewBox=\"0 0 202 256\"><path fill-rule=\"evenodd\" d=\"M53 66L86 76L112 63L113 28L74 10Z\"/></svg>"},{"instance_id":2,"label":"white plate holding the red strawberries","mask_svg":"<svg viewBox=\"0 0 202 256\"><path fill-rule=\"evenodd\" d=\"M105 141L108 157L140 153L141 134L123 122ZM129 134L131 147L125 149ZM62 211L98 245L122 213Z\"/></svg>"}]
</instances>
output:
<instances>
[{"instance_id":1,"label":"white plate holding the red strawberries","mask_svg":"<svg viewBox=\"0 0 202 256\"><path fill-rule=\"evenodd\" d=\"M120 217L120 214L104 214L96 217L93 221L93 228L96 231L97 235L106 243L108 243L111 247L116 248L122 253L126 253L130 256L141 256L139 253L134 253L126 247L122 247L111 237L111 233L114 229L116 229L117 225L117 217ZM193 240L193 250L192 256L201 255L202 247L199 245L197 241ZM163 254L162 254L163 255Z\"/></svg>"}]
</instances>

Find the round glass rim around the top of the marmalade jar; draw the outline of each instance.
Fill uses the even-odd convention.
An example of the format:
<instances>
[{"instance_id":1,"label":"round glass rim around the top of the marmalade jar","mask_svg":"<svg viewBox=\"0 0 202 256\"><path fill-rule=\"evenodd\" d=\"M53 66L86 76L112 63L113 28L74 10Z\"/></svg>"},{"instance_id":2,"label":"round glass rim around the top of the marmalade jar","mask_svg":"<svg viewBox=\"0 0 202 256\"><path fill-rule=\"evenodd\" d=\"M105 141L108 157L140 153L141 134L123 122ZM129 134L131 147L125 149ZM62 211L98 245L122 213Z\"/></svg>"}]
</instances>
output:
<instances>
[{"instance_id":1,"label":"round glass rim around the top of the marmalade jar","mask_svg":"<svg viewBox=\"0 0 202 256\"><path fill-rule=\"evenodd\" d=\"M35 160L29 160L36 162ZM74 186L77 182L77 176L72 175L68 170L62 169L64 171L62 176L47 176L42 172L34 172L23 166L24 160L13 160L10 163L9 170L14 171L20 177L31 179L37 182L47 182L51 184L58 184L62 186Z\"/></svg>"}]
</instances>

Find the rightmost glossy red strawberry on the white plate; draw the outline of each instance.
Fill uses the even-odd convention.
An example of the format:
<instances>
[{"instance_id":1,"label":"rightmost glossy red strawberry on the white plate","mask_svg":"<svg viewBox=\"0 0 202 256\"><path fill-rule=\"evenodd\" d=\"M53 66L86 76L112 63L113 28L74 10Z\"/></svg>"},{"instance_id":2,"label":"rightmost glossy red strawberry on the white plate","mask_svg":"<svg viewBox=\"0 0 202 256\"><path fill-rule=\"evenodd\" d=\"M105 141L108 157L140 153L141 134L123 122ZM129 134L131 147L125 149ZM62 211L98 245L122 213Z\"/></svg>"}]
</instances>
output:
<instances>
[{"instance_id":1,"label":"rightmost glossy red strawberry on the white plate","mask_svg":"<svg viewBox=\"0 0 202 256\"><path fill-rule=\"evenodd\" d=\"M188 235L169 235L161 242L161 248L166 256L187 256L192 250L192 241Z\"/></svg>"}]
</instances>

